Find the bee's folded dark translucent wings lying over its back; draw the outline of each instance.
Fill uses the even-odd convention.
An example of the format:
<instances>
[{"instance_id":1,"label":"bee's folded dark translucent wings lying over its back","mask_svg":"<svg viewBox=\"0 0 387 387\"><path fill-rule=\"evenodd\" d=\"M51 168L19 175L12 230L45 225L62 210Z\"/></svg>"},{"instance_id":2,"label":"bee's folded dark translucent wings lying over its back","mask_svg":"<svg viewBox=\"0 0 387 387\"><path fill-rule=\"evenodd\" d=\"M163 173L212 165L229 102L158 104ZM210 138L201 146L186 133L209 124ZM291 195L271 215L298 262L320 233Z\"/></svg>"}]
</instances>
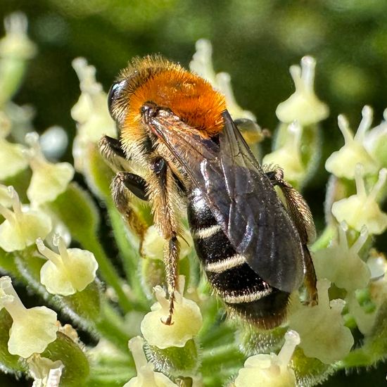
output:
<instances>
[{"instance_id":1,"label":"bee's folded dark translucent wings lying over its back","mask_svg":"<svg viewBox=\"0 0 387 387\"><path fill-rule=\"evenodd\" d=\"M219 146L181 121L171 125L167 113L149 125L203 191L236 251L268 284L291 292L304 269L296 227L227 111L223 119Z\"/></svg>"}]
</instances>

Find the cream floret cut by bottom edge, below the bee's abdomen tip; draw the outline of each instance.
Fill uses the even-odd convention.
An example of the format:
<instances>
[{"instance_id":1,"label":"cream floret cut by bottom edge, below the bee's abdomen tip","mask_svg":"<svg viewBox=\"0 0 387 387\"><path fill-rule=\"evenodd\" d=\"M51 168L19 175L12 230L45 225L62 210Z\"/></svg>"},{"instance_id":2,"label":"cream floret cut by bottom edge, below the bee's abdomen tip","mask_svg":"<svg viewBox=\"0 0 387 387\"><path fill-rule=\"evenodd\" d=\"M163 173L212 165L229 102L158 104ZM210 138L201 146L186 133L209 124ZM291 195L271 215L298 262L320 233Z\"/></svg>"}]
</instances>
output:
<instances>
[{"instance_id":1,"label":"cream floret cut by bottom edge, below the bee's abdomen tip","mask_svg":"<svg viewBox=\"0 0 387 387\"><path fill-rule=\"evenodd\" d=\"M285 334L285 343L278 355L254 355L248 357L245 367L239 370L234 381L236 387L245 386L271 386L291 387L296 386L296 376L289 362L300 343L300 336L296 331L288 331Z\"/></svg>"}]
</instances>

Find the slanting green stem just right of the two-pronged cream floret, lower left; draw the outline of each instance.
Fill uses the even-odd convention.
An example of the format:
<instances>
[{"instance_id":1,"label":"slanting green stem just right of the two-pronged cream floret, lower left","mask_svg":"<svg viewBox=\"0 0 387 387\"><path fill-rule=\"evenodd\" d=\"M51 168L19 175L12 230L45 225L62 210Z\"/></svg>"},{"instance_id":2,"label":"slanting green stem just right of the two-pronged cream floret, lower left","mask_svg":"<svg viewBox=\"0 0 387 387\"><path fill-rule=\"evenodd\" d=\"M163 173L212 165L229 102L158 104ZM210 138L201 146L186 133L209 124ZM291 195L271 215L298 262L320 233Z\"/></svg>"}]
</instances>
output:
<instances>
[{"instance_id":1,"label":"slanting green stem just right of the two-pronged cream floret, lower left","mask_svg":"<svg viewBox=\"0 0 387 387\"><path fill-rule=\"evenodd\" d=\"M111 286L117 295L118 305L122 308L123 312L127 313L129 310L133 310L133 305L127 298L127 295L122 290L122 279L120 279L112 262L108 259L101 243L94 234L87 234L82 241L82 246L87 250L94 253L99 265L99 272L104 281Z\"/></svg>"}]
</instances>

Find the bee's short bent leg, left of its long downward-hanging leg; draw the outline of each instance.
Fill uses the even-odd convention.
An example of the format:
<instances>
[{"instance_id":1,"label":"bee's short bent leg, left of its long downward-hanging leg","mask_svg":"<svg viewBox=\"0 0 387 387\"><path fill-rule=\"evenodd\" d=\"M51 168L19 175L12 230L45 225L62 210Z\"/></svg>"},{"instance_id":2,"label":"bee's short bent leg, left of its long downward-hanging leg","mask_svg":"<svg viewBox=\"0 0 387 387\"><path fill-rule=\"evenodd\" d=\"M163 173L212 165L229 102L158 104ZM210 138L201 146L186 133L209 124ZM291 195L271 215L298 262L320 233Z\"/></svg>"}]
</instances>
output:
<instances>
[{"instance_id":1,"label":"bee's short bent leg, left of its long downward-hanging leg","mask_svg":"<svg viewBox=\"0 0 387 387\"><path fill-rule=\"evenodd\" d=\"M118 172L115 175L110 186L113 202L118 211L124 217L125 221L131 229L139 236L140 251L141 243L144 239L144 234L148 226L139 219L136 212L132 208L132 199L135 195L143 200L148 200L145 191L145 181L142 177L129 172Z\"/></svg>"}]
</instances>

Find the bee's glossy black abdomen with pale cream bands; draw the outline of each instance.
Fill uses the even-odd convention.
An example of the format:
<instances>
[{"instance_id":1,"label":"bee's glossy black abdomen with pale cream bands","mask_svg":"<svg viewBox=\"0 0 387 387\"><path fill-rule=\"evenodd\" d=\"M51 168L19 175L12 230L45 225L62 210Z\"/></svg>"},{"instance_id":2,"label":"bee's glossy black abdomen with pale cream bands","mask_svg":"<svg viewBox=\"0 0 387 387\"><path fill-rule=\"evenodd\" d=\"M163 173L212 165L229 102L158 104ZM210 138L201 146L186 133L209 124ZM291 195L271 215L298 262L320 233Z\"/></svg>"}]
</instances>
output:
<instances>
[{"instance_id":1,"label":"bee's glossy black abdomen with pale cream bands","mask_svg":"<svg viewBox=\"0 0 387 387\"><path fill-rule=\"evenodd\" d=\"M208 281L227 307L266 329L281 324L289 293L263 281L243 255L236 253L200 189L194 189L189 195L188 220Z\"/></svg>"}]
</instances>

